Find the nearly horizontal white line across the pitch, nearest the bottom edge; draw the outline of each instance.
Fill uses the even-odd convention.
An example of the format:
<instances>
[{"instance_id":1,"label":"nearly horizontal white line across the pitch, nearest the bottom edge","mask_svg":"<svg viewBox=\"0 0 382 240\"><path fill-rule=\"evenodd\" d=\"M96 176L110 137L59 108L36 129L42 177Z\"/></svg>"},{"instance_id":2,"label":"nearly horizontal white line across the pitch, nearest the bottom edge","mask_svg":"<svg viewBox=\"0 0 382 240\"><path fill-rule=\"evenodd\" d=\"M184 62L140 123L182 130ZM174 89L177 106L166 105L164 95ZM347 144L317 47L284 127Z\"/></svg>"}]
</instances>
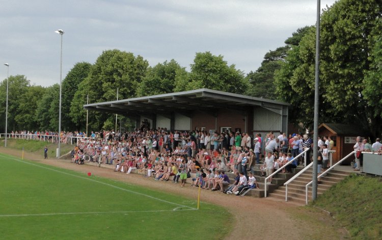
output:
<instances>
[{"instance_id":1,"label":"nearly horizontal white line across the pitch, nearest the bottom edge","mask_svg":"<svg viewBox=\"0 0 382 240\"><path fill-rule=\"evenodd\" d=\"M57 215L86 215L86 214L135 214L145 212L163 212L163 211L194 211L197 209L179 209L176 207L172 210L147 210L147 211L97 211L97 212L53 212L51 214L8 214L0 215L1 217L42 217L42 216L57 216Z\"/></svg>"}]
</instances>

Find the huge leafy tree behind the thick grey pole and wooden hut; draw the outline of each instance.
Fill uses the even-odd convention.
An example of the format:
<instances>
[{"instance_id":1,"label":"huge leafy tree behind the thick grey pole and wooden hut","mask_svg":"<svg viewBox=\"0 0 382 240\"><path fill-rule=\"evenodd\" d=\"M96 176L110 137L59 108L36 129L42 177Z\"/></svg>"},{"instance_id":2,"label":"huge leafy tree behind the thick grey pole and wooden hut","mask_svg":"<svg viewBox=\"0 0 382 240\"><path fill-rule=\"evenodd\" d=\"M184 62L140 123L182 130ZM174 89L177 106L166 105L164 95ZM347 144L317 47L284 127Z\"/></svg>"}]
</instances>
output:
<instances>
[{"instance_id":1,"label":"huge leafy tree behind the thick grey pole and wooden hut","mask_svg":"<svg viewBox=\"0 0 382 240\"><path fill-rule=\"evenodd\" d=\"M340 0L321 16L320 119L321 122L351 122L370 127L376 117L363 95L370 61L373 33L382 16L382 4ZM293 104L294 120L309 127L313 122L315 34L309 30L277 74L278 91ZM301 116L301 115L306 115ZM369 125L369 123L371 123ZM380 125L380 124L379 124ZM371 129L380 134L379 129Z\"/></svg>"}]
</instances>

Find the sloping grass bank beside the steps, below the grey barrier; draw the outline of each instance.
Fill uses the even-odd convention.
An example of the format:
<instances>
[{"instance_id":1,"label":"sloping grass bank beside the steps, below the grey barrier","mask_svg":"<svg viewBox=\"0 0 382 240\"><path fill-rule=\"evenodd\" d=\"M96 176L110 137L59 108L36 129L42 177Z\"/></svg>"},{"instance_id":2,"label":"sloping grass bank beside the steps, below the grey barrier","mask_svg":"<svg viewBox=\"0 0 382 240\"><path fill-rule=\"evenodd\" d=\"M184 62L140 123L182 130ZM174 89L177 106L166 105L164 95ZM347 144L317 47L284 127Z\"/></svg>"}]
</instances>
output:
<instances>
[{"instance_id":1,"label":"sloping grass bank beside the steps, below the grey barrier","mask_svg":"<svg viewBox=\"0 0 382 240\"><path fill-rule=\"evenodd\" d=\"M382 239L382 182L351 174L312 203L328 210L352 239Z\"/></svg>"}]
</instances>

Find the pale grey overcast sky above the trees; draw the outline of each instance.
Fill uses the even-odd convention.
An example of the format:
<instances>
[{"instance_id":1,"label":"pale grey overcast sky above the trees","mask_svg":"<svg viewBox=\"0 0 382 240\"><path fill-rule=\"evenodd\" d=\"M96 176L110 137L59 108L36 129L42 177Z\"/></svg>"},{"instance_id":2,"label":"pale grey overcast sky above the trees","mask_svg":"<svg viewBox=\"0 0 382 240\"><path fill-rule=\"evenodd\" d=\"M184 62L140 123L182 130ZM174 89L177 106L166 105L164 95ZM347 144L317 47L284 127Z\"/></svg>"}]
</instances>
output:
<instances>
[{"instance_id":1,"label":"pale grey overcast sky above the trees","mask_svg":"<svg viewBox=\"0 0 382 240\"><path fill-rule=\"evenodd\" d=\"M321 9L334 0L321 0ZM316 0L0 0L0 79L25 75L32 84L60 83L77 62L103 50L141 55L150 66L175 59L189 69L196 52L223 55L245 73L284 45L297 28L316 21Z\"/></svg>"}]
</instances>

